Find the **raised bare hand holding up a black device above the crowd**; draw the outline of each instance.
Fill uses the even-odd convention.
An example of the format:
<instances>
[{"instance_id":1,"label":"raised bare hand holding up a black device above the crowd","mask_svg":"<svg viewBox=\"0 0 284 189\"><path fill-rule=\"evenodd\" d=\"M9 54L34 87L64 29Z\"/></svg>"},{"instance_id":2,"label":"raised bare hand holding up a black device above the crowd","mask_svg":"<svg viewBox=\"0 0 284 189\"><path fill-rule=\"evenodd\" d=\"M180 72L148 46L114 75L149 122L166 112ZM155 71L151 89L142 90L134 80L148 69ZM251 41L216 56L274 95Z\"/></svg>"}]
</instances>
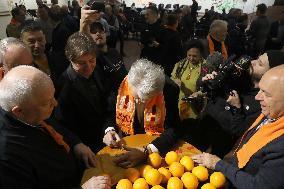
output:
<instances>
[{"instance_id":1,"label":"raised bare hand holding up a black device above the crowd","mask_svg":"<svg viewBox=\"0 0 284 189\"><path fill-rule=\"evenodd\" d=\"M81 8L80 32L90 33L90 24L100 19L100 13L84 5Z\"/></svg>"}]
</instances>

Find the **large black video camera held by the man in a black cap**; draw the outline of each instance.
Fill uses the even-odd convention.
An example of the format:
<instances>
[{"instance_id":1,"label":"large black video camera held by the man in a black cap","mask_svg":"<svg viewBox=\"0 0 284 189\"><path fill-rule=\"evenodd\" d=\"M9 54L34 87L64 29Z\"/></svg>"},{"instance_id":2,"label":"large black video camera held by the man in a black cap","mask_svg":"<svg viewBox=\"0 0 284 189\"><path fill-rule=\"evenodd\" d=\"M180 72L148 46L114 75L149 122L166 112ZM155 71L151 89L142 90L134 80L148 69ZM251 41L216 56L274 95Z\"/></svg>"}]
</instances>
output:
<instances>
[{"instance_id":1,"label":"large black video camera held by the man in a black cap","mask_svg":"<svg viewBox=\"0 0 284 189\"><path fill-rule=\"evenodd\" d=\"M217 76L212 80L204 81L202 92L212 93L229 85L229 81L237 81L244 72L248 72L251 65L251 57L241 56L236 61L235 55L230 56L217 70Z\"/></svg>"}]
</instances>

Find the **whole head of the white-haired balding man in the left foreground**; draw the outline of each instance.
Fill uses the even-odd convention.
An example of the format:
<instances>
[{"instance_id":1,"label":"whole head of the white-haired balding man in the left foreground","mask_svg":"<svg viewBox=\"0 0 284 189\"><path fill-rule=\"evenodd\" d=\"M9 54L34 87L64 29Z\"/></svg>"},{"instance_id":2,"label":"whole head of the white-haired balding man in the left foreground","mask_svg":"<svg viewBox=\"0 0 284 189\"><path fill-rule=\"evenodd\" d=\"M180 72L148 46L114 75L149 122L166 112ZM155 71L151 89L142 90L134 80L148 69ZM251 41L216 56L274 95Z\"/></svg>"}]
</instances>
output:
<instances>
[{"instance_id":1,"label":"whole head of the white-haired balding man in the left foreground","mask_svg":"<svg viewBox=\"0 0 284 189\"><path fill-rule=\"evenodd\" d=\"M48 75L31 66L18 66L0 82L0 106L17 119L38 125L57 105L54 92Z\"/></svg>"}]
</instances>

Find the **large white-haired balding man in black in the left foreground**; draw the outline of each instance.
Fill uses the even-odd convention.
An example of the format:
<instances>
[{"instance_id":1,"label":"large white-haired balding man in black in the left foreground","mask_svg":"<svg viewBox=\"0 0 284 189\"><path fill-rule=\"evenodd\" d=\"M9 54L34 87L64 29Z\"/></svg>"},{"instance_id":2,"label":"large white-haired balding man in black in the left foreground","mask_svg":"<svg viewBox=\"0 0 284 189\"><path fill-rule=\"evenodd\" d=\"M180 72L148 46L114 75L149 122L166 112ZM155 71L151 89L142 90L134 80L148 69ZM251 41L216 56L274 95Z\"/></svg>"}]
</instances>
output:
<instances>
[{"instance_id":1,"label":"large white-haired balding man in black in the left foreground","mask_svg":"<svg viewBox=\"0 0 284 189\"><path fill-rule=\"evenodd\" d=\"M10 70L0 82L0 188L110 189L108 177L80 187L94 153L54 120L51 79L30 66ZM83 165L85 164L85 165Z\"/></svg>"}]
</instances>

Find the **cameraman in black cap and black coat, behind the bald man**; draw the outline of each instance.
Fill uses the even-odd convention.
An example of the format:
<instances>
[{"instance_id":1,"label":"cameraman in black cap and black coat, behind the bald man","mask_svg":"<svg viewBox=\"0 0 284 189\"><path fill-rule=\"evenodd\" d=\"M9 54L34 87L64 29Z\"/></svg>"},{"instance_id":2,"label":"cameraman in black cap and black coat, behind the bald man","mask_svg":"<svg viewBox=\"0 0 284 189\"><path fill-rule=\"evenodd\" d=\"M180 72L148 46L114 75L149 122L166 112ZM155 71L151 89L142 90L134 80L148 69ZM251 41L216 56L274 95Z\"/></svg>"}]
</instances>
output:
<instances>
[{"instance_id":1,"label":"cameraman in black cap and black coat, behind the bald man","mask_svg":"<svg viewBox=\"0 0 284 189\"><path fill-rule=\"evenodd\" d=\"M223 156L232 148L235 139L243 134L260 113L260 105L254 97L259 90L258 83L262 75L282 64L283 58L283 52L267 51L257 60L251 61L247 74L244 73L240 78L228 78L225 87L218 88L210 96L200 120L200 132L205 139L203 149L211 147L213 153ZM207 74L202 77L202 82L214 80L217 75L217 72Z\"/></svg>"}]
</instances>

